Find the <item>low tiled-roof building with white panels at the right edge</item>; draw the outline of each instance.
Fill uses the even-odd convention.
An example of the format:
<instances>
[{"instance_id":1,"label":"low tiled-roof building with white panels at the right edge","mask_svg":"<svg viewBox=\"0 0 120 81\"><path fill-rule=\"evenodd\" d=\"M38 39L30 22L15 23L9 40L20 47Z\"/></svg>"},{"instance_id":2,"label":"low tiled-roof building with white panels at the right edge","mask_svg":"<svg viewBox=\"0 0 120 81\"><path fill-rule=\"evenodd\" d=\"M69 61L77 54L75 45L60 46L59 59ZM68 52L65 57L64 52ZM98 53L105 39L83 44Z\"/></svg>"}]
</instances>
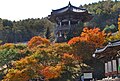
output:
<instances>
[{"instance_id":1,"label":"low tiled-roof building with white panels at the right edge","mask_svg":"<svg viewBox=\"0 0 120 81\"><path fill-rule=\"evenodd\" d=\"M120 33L120 15L118 30L117 33ZM120 76L120 40L111 41L104 48L96 49L93 56L104 62L103 69L106 77Z\"/></svg>"}]
</instances>

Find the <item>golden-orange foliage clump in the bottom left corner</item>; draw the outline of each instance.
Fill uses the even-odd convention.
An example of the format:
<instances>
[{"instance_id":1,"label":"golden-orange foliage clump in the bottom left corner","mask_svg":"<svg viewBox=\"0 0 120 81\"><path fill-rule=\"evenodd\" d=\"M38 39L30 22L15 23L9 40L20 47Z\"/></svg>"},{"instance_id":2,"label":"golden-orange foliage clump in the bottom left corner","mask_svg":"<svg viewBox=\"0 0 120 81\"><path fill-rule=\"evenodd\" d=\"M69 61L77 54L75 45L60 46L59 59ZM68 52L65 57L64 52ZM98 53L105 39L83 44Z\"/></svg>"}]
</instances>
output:
<instances>
[{"instance_id":1,"label":"golden-orange foliage clump in the bottom left corner","mask_svg":"<svg viewBox=\"0 0 120 81\"><path fill-rule=\"evenodd\" d=\"M2 81L28 81L36 77L37 73L43 66L38 63L37 59L27 56L13 63L13 68Z\"/></svg>"}]
</instances>

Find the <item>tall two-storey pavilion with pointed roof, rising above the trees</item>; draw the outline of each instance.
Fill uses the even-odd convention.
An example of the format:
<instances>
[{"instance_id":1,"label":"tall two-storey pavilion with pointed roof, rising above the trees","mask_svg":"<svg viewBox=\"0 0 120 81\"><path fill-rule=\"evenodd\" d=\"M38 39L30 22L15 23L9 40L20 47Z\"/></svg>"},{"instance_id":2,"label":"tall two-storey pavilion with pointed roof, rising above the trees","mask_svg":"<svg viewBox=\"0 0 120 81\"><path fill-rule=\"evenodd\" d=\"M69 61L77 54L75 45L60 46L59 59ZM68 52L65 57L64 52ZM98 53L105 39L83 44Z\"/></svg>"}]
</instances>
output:
<instances>
[{"instance_id":1,"label":"tall two-storey pavilion with pointed roof, rising above the trees","mask_svg":"<svg viewBox=\"0 0 120 81\"><path fill-rule=\"evenodd\" d=\"M56 23L56 42L65 42L68 35L75 34L79 23L91 20L93 17L84 8L75 7L69 4L63 8L52 10L49 20ZM74 35L73 35L74 36Z\"/></svg>"}]
</instances>

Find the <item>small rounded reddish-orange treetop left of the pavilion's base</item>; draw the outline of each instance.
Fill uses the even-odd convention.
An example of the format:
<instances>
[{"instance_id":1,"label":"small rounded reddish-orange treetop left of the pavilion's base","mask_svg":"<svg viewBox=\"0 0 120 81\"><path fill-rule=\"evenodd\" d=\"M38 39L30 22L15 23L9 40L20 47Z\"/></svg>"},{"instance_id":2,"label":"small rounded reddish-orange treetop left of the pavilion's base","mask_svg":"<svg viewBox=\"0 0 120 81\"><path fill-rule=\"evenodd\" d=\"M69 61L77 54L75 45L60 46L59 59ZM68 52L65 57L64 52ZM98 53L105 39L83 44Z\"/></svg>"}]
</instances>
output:
<instances>
[{"instance_id":1,"label":"small rounded reddish-orange treetop left of the pavilion's base","mask_svg":"<svg viewBox=\"0 0 120 81\"><path fill-rule=\"evenodd\" d=\"M46 38L42 38L40 36L34 36L29 42L28 42L28 47L29 48L34 48L37 47L41 44L50 44L50 41L47 40Z\"/></svg>"}]
</instances>

